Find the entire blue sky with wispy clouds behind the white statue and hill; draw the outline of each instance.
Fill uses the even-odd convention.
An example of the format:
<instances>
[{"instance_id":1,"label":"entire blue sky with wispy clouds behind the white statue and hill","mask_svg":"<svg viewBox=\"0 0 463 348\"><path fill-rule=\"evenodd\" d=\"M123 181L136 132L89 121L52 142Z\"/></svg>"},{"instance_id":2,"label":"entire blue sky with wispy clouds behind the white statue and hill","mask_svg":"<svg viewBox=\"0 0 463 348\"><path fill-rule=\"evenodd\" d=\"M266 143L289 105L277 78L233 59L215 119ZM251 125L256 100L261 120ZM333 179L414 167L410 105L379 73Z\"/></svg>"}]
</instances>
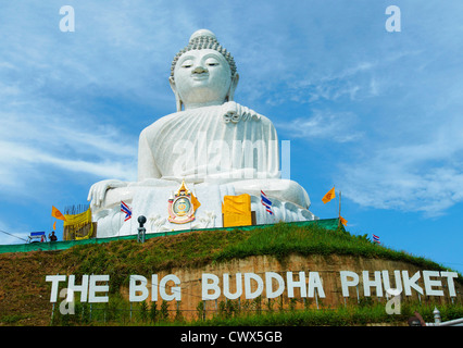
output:
<instances>
[{"instance_id":1,"label":"entire blue sky with wispy clouds behind the white statue and hill","mask_svg":"<svg viewBox=\"0 0 463 348\"><path fill-rule=\"evenodd\" d=\"M136 179L138 135L175 111L171 62L199 28L234 55L235 100L291 141L315 215L337 215L321 200L336 185L348 231L463 273L460 1L2 1L1 231L49 232L51 206Z\"/></svg>"}]
</instances>

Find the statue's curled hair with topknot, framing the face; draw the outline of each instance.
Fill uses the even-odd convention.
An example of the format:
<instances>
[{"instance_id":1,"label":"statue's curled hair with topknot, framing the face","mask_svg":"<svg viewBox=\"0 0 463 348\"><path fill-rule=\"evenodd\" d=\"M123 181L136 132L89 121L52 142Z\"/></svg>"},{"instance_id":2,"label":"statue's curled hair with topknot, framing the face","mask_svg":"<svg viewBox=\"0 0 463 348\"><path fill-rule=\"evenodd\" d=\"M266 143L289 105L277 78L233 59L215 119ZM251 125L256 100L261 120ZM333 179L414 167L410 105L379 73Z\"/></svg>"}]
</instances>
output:
<instances>
[{"instance_id":1,"label":"statue's curled hair with topknot, framing the face","mask_svg":"<svg viewBox=\"0 0 463 348\"><path fill-rule=\"evenodd\" d=\"M232 77L236 74L236 64L233 55L230 52L228 52L224 47L218 44L217 38L215 37L214 33L208 29L199 29L195 32L190 36L190 40L188 46L183 48L174 58L171 66L171 77L174 78L174 71L175 65L177 64L178 59L182 54L185 52L191 51L191 50L203 50L203 49L211 49L215 50L225 58L225 60L228 62L232 71Z\"/></svg>"}]
</instances>

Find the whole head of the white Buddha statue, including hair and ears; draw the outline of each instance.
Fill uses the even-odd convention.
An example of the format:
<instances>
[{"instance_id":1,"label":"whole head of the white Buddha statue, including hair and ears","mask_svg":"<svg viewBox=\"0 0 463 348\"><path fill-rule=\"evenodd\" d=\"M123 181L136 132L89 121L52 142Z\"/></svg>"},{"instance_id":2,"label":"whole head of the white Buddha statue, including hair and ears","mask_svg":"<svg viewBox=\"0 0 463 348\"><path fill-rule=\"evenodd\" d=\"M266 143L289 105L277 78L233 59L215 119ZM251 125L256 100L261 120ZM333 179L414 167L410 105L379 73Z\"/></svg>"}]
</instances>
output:
<instances>
[{"instance_id":1,"label":"whole head of the white Buddha statue, including hair and ears","mask_svg":"<svg viewBox=\"0 0 463 348\"><path fill-rule=\"evenodd\" d=\"M217 105L233 100L239 76L235 61L213 33L201 29L175 55L168 82L177 111Z\"/></svg>"}]
</instances>

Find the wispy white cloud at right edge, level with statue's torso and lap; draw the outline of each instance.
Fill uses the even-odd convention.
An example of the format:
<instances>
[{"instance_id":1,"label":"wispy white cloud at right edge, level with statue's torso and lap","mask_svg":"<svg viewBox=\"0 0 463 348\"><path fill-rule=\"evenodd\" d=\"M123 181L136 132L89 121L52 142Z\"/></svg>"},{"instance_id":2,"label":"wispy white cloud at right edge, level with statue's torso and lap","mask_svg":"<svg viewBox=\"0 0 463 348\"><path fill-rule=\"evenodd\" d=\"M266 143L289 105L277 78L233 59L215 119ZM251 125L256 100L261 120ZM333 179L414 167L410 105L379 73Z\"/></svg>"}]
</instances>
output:
<instances>
[{"instance_id":1,"label":"wispy white cloud at right edge, level with statue's torso and lap","mask_svg":"<svg viewBox=\"0 0 463 348\"><path fill-rule=\"evenodd\" d=\"M463 124L448 120L434 128L418 129L420 144L364 146L363 159L340 164L342 192L364 207L426 216L463 201Z\"/></svg>"}]
</instances>

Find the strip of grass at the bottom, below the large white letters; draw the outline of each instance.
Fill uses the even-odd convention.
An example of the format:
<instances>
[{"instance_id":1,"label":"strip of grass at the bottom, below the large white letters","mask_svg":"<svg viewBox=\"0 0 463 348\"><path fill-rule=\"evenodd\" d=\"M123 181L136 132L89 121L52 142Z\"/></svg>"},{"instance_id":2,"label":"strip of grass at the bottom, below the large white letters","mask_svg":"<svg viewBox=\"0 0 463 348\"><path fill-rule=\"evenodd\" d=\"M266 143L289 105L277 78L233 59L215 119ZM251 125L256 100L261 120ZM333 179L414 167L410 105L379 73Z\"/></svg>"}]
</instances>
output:
<instances>
[{"instance_id":1,"label":"strip of grass at the bottom, below the large white letters","mask_svg":"<svg viewBox=\"0 0 463 348\"><path fill-rule=\"evenodd\" d=\"M230 301L228 301L230 302ZM200 311L197 319L187 321L182 311L167 312L165 303L149 306L146 302L135 303L118 299L113 304L93 304L92 311L88 303L77 304L74 315L62 315L54 311L52 325L137 325L137 326L365 326L368 324L406 325L409 318L418 312L425 322L433 323L435 304L404 302L399 314L388 314L385 303L368 303L359 306L339 307L336 309L321 308L302 310L281 310L255 308L229 310L228 304L222 302L213 318L203 320ZM182 307L182 306L180 306ZM437 304L442 322L463 318L462 304ZM132 313L130 313L132 311Z\"/></svg>"}]
</instances>

